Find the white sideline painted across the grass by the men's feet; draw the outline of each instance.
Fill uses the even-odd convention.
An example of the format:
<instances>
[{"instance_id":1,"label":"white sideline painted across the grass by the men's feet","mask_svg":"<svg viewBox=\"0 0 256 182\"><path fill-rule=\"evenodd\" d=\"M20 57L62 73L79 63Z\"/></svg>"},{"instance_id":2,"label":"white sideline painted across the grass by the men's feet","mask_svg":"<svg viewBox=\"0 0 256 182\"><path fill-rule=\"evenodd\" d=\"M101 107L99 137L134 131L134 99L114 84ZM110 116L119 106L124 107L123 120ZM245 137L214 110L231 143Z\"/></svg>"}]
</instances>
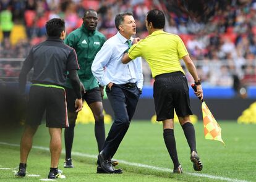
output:
<instances>
[{"instance_id":1,"label":"white sideline painted across the grass by the men's feet","mask_svg":"<svg viewBox=\"0 0 256 182\"><path fill-rule=\"evenodd\" d=\"M14 146L14 147L19 147L20 146L19 144L10 144L10 143L4 143L4 142L0 142L0 144L6 145L6 146ZM43 151L49 151L48 147L33 146L32 148L33 149L40 149L40 150L43 150ZM61 153L65 154L65 151L62 151ZM72 152L72 155L77 155L79 157L88 157L88 158L97 159L97 155L83 154L81 152ZM146 164L143 164L143 163L127 162L125 160L118 160L118 161L120 163L124 163L126 165L130 165L130 166L134 166L134 167L150 168L150 169L161 171L161 172L172 172L172 170L170 170L169 168L155 167L155 166L146 165ZM223 180L223 181L231 181L231 182L249 182L249 181L246 181L246 180L237 180L237 179L233 179L233 178L226 178L226 177L223 177L223 176L207 175L207 174L203 174L203 173L187 173L187 172L184 172L184 173L187 174L187 175L191 175L191 176L211 178L211 179L214 179L214 180ZM51 180L51 179L40 179L40 180L41 181L46 181L46 180Z\"/></svg>"}]
</instances>

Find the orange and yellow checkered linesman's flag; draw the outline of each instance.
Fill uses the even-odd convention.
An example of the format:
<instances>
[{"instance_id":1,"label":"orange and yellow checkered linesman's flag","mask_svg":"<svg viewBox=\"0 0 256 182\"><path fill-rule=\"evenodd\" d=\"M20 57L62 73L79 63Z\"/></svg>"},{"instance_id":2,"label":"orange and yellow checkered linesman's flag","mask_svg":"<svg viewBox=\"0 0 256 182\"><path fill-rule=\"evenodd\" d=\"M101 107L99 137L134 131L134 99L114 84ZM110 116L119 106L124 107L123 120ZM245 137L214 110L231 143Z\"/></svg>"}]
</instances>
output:
<instances>
[{"instance_id":1,"label":"orange and yellow checkered linesman's flag","mask_svg":"<svg viewBox=\"0 0 256 182\"><path fill-rule=\"evenodd\" d=\"M197 90L197 86L191 85L194 91ZM199 98L200 99L200 98ZM215 118L211 114L210 109L208 109L205 102L202 100L202 113L203 113L203 129L205 131L205 139L213 139L220 141L225 145L223 139L221 138L221 127L216 122Z\"/></svg>"}]
</instances>

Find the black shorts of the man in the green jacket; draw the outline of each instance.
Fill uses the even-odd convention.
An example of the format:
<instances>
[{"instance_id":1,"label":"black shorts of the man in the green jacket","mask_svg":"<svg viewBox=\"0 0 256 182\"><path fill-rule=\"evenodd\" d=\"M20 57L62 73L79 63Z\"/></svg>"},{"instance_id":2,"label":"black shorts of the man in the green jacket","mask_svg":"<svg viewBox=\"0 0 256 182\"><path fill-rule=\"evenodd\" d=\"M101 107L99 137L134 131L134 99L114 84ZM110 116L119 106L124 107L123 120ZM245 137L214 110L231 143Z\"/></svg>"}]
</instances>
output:
<instances>
[{"instance_id":1,"label":"black shorts of the man in the green jacket","mask_svg":"<svg viewBox=\"0 0 256 182\"><path fill-rule=\"evenodd\" d=\"M75 91L72 88L65 89L67 94L67 110L69 110L69 112L75 112L75 99L77 99ZM82 96L83 100L86 101L87 104L102 102L101 91L98 87L86 91L86 93L82 94Z\"/></svg>"}]
</instances>

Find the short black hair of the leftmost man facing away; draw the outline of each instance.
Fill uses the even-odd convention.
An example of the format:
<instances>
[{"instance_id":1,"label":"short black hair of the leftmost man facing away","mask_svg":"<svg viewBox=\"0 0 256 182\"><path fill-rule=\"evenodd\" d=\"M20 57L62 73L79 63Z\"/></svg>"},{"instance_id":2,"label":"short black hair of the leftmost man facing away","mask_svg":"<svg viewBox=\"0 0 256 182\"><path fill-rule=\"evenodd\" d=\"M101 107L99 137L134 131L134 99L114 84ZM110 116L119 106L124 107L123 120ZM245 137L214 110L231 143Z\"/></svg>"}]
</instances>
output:
<instances>
[{"instance_id":1,"label":"short black hair of the leftmost man facing away","mask_svg":"<svg viewBox=\"0 0 256 182\"><path fill-rule=\"evenodd\" d=\"M48 36L59 38L61 36L61 32L65 31L65 21L54 18L46 22L45 27Z\"/></svg>"}]
</instances>

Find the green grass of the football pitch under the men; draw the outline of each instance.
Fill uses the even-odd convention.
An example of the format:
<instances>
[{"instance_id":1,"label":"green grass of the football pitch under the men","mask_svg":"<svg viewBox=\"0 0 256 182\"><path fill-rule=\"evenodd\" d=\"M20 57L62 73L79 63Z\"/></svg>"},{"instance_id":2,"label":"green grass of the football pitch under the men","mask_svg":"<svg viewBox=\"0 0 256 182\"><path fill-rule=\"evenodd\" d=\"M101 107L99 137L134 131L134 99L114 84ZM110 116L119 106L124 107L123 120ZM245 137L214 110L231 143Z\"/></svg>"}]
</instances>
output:
<instances>
[{"instance_id":1,"label":"green grass of the football pitch under the men","mask_svg":"<svg viewBox=\"0 0 256 182\"><path fill-rule=\"evenodd\" d=\"M256 125L238 125L236 122L219 122L222 137L227 147L218 141L204 139L203 124L195 124L197 134L197 151L203 162L202 172L194 172L189 160L190 151L181 126L176 124L175 136L179 161L184 174L174 175L171 172L136 167L120 163L122 175L96 174L96 159L73 155L75 168L63 168L64 155L61 156L59 168L63 170L67 179L63 181L221 181L194 174L221 176L234 180L256 181ZM106 133L111 125L106 125ZM142 163L158 168L173 169L173 163L164 146L162 126L150 122L132 122L130 128L117 150L115 159L130 163ZM15 133L15 134L13 134ZM0 134L0 142L19 144L21 131ZM47 128L41 125L35 134L34 146L49 146ZM64 148L64 145L63 145ZM73 151L95 155L98 153L94 136L94 125L77 125ZM0 165L5 168L15 168L19 164L19 147L0 144ZM32 149L28 158L28 174L40 177L25 177L26 181L39 181L46 178L49 171L49 152ZM1 168L0 167L0 168ZM0 170L0 181L17 181L12 170ZM20 180L21 181L21 180Z\"/></svg>"}]
</instances>

